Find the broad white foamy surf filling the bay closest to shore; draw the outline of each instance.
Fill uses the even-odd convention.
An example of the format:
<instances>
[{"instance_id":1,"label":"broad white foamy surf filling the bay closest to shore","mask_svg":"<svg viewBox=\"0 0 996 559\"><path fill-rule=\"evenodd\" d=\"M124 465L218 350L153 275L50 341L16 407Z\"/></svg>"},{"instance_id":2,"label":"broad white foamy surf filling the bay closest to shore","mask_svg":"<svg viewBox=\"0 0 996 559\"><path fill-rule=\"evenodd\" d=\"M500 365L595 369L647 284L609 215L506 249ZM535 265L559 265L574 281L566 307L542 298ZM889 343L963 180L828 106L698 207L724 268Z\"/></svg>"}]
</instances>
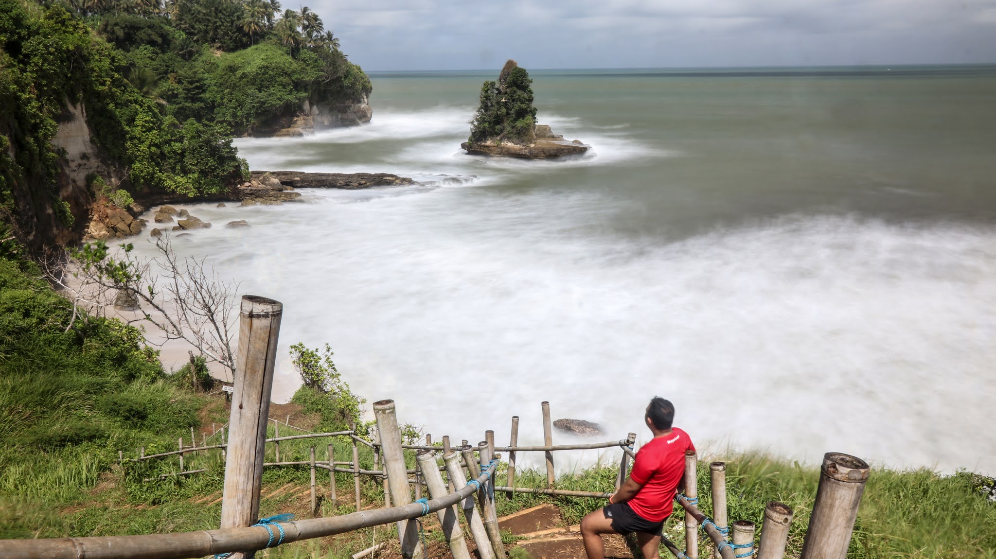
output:
<instances>
[{"instance_id":1,"label":"broad white foamy surf filling the bay closest to shore","mask_svg":"<svg viewBox=\"0 0 996 559\"><path fill-rule=\"evenodd\" d=\"M312 192L191 208L253 228L176 244L285 303L278 401L288 346L329 341L355 390L455 439L519 415L539 442L540 400L642 438L659 394L702 444L996 471L994 228L800 217L658 244L601 232L622 203L590 192ZM489 406L465 417L452 386Z\"/></svg>"}]
</instances>

